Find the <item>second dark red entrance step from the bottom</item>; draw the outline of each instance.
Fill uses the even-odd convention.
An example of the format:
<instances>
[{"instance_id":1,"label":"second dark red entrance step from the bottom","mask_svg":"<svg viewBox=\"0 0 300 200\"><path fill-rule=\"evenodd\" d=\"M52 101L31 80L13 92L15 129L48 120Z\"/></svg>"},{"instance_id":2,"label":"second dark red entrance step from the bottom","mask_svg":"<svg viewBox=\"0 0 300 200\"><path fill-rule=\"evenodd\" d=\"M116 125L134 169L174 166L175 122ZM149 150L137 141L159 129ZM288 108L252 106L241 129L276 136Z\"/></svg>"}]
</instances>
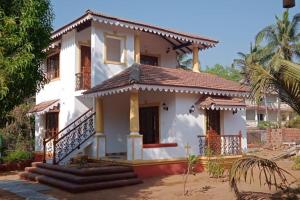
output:
<instances>
[{"instance_id":1,"label":"second dark red entrance step from the bottom","mask_svg":"<svg viewBox=\"0 0 300 200\"><path fill-rule=\"evenodd\" d=\"M54 171L47 168L40 167L26 167L25 172L40 174L49 176L52 178L72 182L72 183L94 183L94 182L104 182L104 181L113 181L120 179L130 179L137 178L136 174L132 172L123 172L123 173L113 173L113 174L100 174L100 175L90 175L90 176L79 176L61 171Z\"/></svg>"}]
</instances>

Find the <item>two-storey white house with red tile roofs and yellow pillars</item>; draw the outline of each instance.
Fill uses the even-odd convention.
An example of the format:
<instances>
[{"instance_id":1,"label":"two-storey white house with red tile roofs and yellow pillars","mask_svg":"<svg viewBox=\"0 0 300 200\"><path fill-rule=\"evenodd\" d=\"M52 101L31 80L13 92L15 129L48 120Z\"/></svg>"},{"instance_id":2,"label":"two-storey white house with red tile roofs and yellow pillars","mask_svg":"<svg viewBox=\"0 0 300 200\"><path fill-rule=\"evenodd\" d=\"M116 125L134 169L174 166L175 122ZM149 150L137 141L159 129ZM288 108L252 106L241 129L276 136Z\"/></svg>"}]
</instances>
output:
<instances>
[{"instance_id":1,"label":"two-storey white house with red tile roofs and yellow pillars","mask_svg":"<svg viewBox=\"0 0 300 200\"><path fill-rule=\"evenodd\" d=\"M54 164L95 159L180 160L247 149L248 88L201 72L218 41L87 11L52 34L36 95L35 148ZM177 56L193 54L193 71ZM43 143L45 148L43 147Z\"/></svg>"}]
</instances>

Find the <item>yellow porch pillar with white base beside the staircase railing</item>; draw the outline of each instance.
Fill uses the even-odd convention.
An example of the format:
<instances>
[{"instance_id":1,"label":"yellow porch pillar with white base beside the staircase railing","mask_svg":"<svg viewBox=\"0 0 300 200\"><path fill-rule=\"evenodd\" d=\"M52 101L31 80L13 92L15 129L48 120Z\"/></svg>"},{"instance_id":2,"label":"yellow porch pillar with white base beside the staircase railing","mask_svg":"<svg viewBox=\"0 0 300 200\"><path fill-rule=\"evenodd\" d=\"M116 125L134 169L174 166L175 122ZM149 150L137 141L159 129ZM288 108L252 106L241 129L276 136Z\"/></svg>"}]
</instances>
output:
<instances>
[{"instance_id":1,"label":"yellow porch pillar with white base beside the staircase railing","mask_svg":"<svg viewBox=\"0 0 300 200\"><path fill-rule=\"evenodd\" d=\"M94 155L94 157L99 159L106 156L106 136L104 135L103 99L96 98L95 100L96 155Z\"/></svg>"}]
</instances>

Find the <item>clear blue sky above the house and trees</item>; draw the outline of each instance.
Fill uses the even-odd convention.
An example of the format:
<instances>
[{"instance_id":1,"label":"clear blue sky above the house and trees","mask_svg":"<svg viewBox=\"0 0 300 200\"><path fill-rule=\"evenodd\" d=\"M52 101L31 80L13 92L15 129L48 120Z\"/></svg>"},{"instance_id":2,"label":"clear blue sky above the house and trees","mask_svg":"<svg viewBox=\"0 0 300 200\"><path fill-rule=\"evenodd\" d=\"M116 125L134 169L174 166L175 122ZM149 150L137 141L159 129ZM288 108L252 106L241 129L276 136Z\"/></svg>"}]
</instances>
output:
<instances>
[{"instance_id":1,"label":"clear blue sky above the house and trees","mask_svg":"<svg viewBox=\"0 0 300 200\"><path fill-rule=\"evenodd\" d=\"M147 22L220 41L200 53L202 66L230 65L237 52L247 52L255 34L283 12L282 0L52 0L54 28L85 10ZM300 11L300 0L290 9Z\"/></svg>"}]
</instances>

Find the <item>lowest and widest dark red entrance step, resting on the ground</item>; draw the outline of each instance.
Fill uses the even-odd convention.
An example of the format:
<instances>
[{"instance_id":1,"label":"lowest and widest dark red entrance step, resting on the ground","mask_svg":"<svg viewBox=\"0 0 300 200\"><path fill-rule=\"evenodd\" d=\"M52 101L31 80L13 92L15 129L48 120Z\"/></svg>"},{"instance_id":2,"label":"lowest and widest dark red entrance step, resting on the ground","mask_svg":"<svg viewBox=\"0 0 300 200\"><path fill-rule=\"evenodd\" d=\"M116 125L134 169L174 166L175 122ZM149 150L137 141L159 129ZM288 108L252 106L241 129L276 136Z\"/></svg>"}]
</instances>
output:
<instances>
[{"instance_id":1,"label":"lowest and widest dark red entrance step, resting on the ground","mask_svg":"<svg viewBox=\"0 0 300 200\"><path fill-rule=\"evenodd\" d=\"M120 179L114 181L105 181L105 182L96 182L96 183L85 183L85 184L76 184L68 181L56 179L46 175L35 174L31 172L22 172L20 173L20 177L26 180L36 181L39 183L51 185L54 187L58 187L60 189L72 192L79 193L90 190L99 190L99 189L107 189L107 188L115 188L115 187L124 187L129 185L135 185L142 183L142 181L138 178L130 178L130 179Z\"/></svg>"}]
</instances>

